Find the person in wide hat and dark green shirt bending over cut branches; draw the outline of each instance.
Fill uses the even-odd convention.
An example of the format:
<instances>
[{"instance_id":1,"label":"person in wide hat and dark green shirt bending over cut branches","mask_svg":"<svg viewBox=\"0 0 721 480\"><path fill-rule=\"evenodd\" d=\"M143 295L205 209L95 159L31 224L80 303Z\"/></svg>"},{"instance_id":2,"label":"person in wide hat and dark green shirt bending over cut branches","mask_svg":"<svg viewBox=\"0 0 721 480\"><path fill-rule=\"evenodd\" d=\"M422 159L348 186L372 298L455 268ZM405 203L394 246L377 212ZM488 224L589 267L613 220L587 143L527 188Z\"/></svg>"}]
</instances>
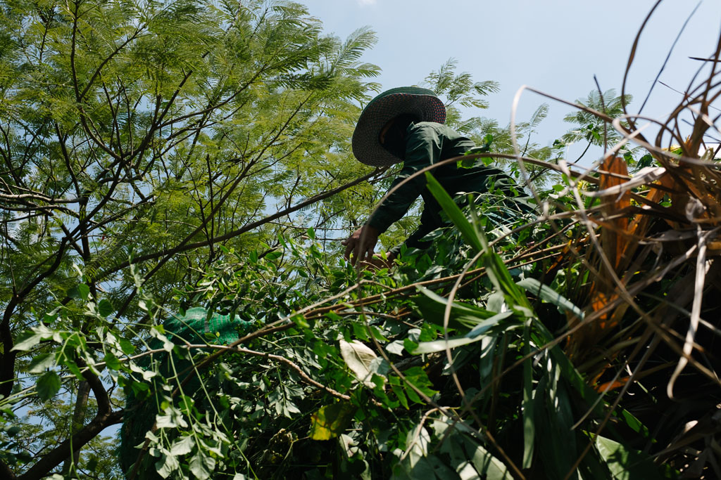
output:
<instances>
[{"instance_id":1,"label":"person in wide hat and dark green shirt bending over cut branches","mask_svg":"<svg viewBox=\"0 0 721 480\"><path fill-rule=\"evenodd\" d=\"M391 184L392 190L413 173L474 148L472 140L444 125L445 121L446 107L433 91L413 86L384 91L361 112L353 132L353 155L371 166L403 162L402 170ZM434 168L431 173L451 196L462 191L484 193L490 184L509 189L513 186L503 171L493 167L460 168L451 162ZM425 184L425 175L415 176L382 201L366 224L343 240L345 258L350 258L353 265L359 260L378 263L373 260L373 252L379 235L401 219L419 195L424 201L420 226L405 245L428 248L429 243L421 239L443 226L443 221L441 206ZM390 262L399 250L400 246L389 251Z\"/></svg>"}]
</instances>

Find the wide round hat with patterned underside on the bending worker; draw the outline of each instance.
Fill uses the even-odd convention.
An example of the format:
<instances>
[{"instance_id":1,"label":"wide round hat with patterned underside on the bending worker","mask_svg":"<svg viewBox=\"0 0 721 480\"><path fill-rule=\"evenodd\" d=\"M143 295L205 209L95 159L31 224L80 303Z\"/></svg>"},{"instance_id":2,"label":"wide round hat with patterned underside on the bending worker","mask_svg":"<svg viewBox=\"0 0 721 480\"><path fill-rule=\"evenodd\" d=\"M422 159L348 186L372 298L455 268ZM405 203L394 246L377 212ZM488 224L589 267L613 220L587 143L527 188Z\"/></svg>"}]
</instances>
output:
<instances>
[{"instance_id":1,"label":"wide round hat with patterned underside on the bending worker","mask_svg":"<svg viewBox=\"0 0 721 480\"><path fill-rule=\"evenodd\" d=\"M402 162L378 139L384 125L402 114L414 114L420 122L446 122L446 107L433 91L415 86L384 91L368 103L355 125L351 142L355 158L374 167Z\"/></svg>"}]
</instances>

